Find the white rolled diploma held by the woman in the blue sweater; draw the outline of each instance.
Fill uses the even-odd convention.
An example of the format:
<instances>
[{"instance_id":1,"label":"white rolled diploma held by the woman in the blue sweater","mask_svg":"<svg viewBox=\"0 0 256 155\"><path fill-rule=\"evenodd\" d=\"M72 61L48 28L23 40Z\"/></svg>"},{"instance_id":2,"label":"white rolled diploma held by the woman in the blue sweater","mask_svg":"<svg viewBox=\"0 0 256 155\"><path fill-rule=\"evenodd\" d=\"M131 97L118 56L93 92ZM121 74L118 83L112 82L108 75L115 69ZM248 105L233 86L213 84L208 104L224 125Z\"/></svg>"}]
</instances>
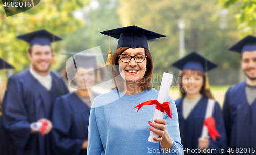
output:
<instances>
[{"instance_id":1,"label":"white rolled diploma held by the woman in the blue sweater","mask_svg":"<svg viewBox=\"0 0 256 155\"><path fill-rule=\"evenodd\" d=\"M173 80L173 74L169 74L169 73L163 73L163 78L162 78L162 82L161 82L161 86L160 86L160 91L158 94L158 98L157 101L161 104L163 104L163 102L166 102L169 96L169 91L170 91L170 85L172 84L172 80ZM163 119L164 113L161 112L158 109L155 109L155 114L154 114L154 118L153 118L153 123L154 123L154 119ZM158 129L158 128L156 128ZM159 137L157 134L153 133L152 131L150 131L150 137L148 137L148 142L153 142L153 143L157 143L157 141L153 140L153 137Z\"/></svg>"}]
</instances>

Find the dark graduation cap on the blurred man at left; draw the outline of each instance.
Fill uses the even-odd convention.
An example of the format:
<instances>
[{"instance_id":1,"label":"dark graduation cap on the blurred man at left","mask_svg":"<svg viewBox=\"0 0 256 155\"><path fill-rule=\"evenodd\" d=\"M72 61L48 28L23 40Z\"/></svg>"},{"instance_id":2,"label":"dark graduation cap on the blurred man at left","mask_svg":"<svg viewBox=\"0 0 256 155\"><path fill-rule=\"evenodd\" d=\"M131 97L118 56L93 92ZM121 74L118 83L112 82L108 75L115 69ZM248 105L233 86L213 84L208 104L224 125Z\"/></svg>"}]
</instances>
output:
<instances>
[{"instance_id":1,"label":"dark graduation cap on the blurred man at left","mask_svg":"<svg viewBox=\"0 0 256 155\"><path fill-rule=\"evenodd\" d=\"M30 47L35 44L51 46L51 42L62 40L62 38L52 34L47 30L34 31L17 36L17 38L28 42Z\"/></svg>"}]
</instances>

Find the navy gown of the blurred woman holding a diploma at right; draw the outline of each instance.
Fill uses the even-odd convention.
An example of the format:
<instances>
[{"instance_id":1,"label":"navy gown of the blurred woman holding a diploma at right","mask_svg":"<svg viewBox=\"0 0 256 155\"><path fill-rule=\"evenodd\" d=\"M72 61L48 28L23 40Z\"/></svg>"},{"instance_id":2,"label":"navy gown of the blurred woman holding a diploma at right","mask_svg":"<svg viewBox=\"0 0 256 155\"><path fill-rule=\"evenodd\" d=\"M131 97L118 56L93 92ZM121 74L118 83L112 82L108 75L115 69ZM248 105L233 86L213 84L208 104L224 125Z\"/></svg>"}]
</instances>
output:
<instances>
[{"instance_id":1,"label":"navy gown of the blurred woman holding a diploma at right","mask_svg":"<svg viewBox=\"0 0 256 155\"><path fill-rule=\"evenodd\" d=\"M203 123L205 120L205 114L207 109L208 98L202 97L195 107L191 110L187 119L183 118L182 107L183 107L184 97L175 101L179 116L180 125L180 136L181 143L186 149L198 149L198 138L202 135ZM214 105L214 111L212 117L215 119L216 130L219 132L221 137L216 136L216 142L210 138L210 143L208 149L215 149L217 153L208 154L222 154L220 148L223 149L227 147L226 144L226 132L224 127L224 120L221 112L221 108L217 102ZM189 153L189 151L184 151L184 154L200 154L200 153Z\"/></svg>"}]
</instances>

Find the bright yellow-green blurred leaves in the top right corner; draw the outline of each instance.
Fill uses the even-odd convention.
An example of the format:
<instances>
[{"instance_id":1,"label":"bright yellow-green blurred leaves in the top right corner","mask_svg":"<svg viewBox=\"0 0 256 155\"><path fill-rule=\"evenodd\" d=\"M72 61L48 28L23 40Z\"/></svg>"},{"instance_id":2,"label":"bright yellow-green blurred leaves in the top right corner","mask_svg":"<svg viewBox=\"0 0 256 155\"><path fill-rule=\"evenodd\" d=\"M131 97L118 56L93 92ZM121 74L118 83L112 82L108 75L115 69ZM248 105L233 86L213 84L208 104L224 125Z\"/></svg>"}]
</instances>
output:
<instances>
[{"instance_id":1,"label":"bright yellow-green blurred leaves in the top right corner","mask_svg":"<svg viewBox=\"0 0 256 155\"><path fill-rule=\"evenodd\" d=\"M220 0L224 8L235 8L240 37L256 32L256 1L255 0Z\"/></svg>"}]
</instances>

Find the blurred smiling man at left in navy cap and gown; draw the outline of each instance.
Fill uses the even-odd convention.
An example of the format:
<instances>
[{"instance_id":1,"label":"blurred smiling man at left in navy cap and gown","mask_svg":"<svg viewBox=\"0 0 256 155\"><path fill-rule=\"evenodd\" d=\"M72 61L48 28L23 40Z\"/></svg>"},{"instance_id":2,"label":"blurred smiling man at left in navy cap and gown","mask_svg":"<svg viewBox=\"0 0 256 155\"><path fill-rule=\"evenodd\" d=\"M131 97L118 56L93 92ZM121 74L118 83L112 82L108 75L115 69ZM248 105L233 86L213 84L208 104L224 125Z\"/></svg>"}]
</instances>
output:
<instances>
[{"instance_id":1,"label":"blurred smiling man at left in navy cap and gown","mask_svg":"<svg viewBox=\"0 0 256 155\"><path fill-rule=\"evenodd\" d=\"M53 103L69 92L63 78L50 71L54 56L51 42L61 38L46 30L17 38L30 44L28 57L31 66L9 78L3 99L3 123L15 143L15 154L51 155L49 132L52 129L50 118ZM34 129L31 124L35 122L45 124L45 129Z\"/></svg>"}]
</instances>

